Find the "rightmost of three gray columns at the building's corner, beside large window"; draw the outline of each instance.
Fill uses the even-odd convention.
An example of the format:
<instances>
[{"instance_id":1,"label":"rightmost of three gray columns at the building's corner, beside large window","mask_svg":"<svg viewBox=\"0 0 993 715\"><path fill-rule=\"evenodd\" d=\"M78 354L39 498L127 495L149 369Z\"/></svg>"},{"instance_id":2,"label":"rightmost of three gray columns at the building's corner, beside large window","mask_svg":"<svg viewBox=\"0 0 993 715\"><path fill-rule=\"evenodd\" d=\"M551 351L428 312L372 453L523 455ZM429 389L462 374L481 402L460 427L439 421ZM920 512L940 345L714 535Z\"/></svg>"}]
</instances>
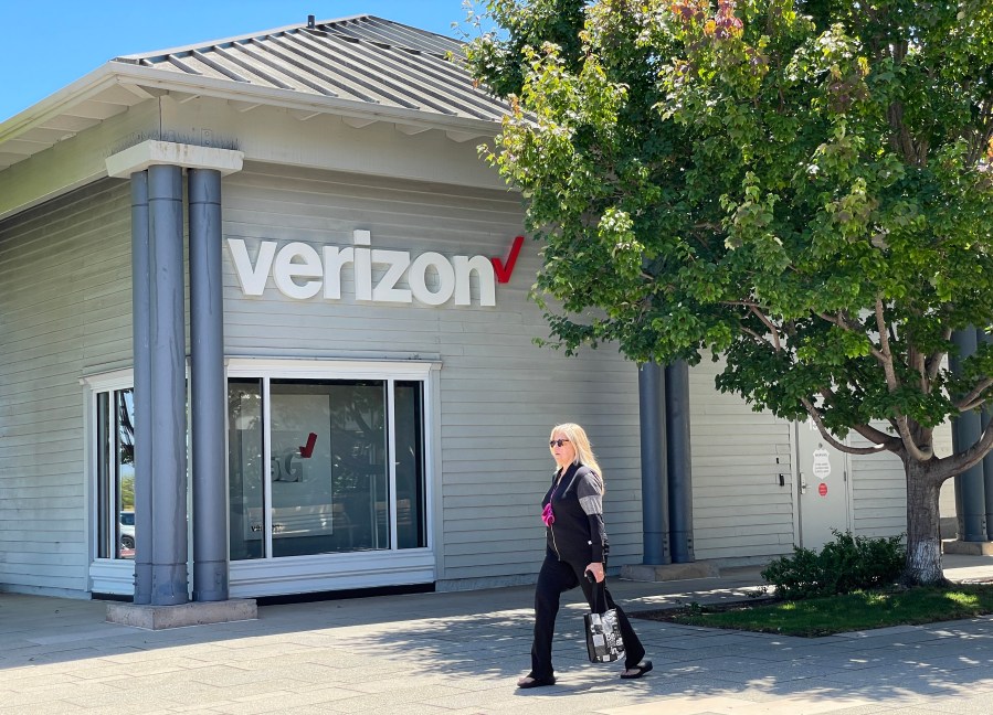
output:
<instances>
[{"instance_id":1,"label":"rightmost of three gray columns at the building's corner, beside large window","mask_svg":"<svg viewBox=\"0 0 993 715\"><path fill-rule=\"evenodd\" d=\"M220 601L229 593L221 172L191 169L188 184L193 600Z\"/></svg>"}]
</instances>

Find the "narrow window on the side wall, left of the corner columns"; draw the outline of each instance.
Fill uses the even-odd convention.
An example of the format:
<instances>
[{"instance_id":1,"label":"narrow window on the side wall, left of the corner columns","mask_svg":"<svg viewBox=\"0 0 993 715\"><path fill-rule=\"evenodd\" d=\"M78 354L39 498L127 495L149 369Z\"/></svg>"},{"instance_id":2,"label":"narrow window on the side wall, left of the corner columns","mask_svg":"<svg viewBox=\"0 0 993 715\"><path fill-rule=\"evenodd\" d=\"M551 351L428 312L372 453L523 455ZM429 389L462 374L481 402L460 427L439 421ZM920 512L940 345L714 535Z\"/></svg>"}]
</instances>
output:
<instances>
[{"instance_id":1,"label":"narrow window on the side wall, left of the corner columns","mask_svg":"<svg viewBox=\"0 0 993 715\"><path fill-rule=\"evenodd\" d=\"M97 556L135 557L134 391L96 393Z\"/></svg>"}]
</instances>

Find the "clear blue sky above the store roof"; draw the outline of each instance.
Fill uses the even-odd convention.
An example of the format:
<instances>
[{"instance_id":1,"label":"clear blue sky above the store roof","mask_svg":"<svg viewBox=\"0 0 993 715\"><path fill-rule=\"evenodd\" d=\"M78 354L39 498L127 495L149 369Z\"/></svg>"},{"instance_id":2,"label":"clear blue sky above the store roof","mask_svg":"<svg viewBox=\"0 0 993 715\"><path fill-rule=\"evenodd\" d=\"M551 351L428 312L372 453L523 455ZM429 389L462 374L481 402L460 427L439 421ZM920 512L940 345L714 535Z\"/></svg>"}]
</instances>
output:
<instances>
[{"instance_id":1,"label":"clear blue sky above the store roof","mask_svg":"<svg viewBox=\"0 0 993 715\"><path fill-rule=\"evenodd\" d=\"M108 60L373 14L457 36L462 0L0 0L0 122Z\"/></svg>"}]
</instances>

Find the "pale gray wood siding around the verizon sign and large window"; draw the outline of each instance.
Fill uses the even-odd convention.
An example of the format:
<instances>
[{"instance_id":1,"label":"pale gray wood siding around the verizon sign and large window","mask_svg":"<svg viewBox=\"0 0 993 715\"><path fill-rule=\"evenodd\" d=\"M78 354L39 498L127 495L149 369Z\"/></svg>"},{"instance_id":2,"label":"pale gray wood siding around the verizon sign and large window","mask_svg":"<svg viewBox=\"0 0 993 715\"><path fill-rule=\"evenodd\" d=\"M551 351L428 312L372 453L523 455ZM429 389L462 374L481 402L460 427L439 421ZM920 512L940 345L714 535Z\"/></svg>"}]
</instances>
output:
<instances>
[{"instance_id":1,"label":"pale gray wood siding around the verizon sign and large window","mask_svg":"<svg viewBox=\"0 0 993 715\"><path fill-rule=\"evenodd\" d=\"M519 199L508 192L275 166L225 178L223 202L225 238L244 238L253 259L258 239L319 250L352 245L357 228L371 231L372 248L504 257L522 233ZM548 334L527 300L539 265L534 242L511 281L497 285L495 308L480 308L475 290L471 307L356 303L350 267L341 300L289 300L272 278L250 298L226 248L224 265L229 354L440 357L440 581L534 577L545 549L539 503L554 466L548 434L562 421L587 427L605 471L612 564L640 559L637 371L610 349L567 359L532 343Z\"/></svg>"}]
</instances>

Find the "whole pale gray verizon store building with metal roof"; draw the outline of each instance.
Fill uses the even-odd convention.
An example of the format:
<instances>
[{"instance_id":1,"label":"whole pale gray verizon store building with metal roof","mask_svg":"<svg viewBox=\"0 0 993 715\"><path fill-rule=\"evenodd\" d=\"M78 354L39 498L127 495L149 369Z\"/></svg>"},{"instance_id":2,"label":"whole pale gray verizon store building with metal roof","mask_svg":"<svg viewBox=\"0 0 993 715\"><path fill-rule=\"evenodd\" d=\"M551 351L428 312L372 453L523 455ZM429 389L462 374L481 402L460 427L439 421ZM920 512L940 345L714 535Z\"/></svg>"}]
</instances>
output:
<instances>
[{"instance_id":1,"label":"whole pale gray verizon store building with metal roof","mask_svg":"<svg viewBox=\"0 0 993 715\"><path fill-rule=\"evenodd\" d=\"M896 459L752 413L706 361L675 403L688 491L645 511L672 450L641 415L672 396L534 344L540 246L476 151L505 107L450 51L310 21L118 57L0 124L0 590L529 583L561 421L604 468L611 570L669 558L669 515L716 564L904 531Z\"/></svg>"}]
</instances>

